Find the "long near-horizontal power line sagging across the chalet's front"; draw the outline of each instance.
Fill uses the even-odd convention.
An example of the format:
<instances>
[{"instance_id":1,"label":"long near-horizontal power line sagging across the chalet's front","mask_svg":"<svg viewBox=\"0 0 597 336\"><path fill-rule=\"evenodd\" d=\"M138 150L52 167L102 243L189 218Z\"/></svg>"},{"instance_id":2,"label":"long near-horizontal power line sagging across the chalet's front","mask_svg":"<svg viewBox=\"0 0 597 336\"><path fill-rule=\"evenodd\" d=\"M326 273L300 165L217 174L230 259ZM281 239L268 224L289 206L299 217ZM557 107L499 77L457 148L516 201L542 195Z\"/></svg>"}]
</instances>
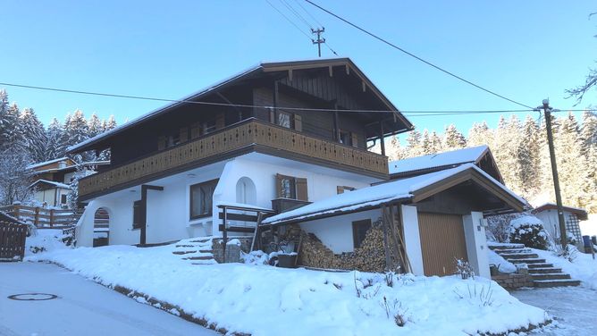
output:
<instances>
[{"instance_id":1,"label":"long near-horizontal power line sagging across the chalet's front","mask_svg":"<svg viewBox=\"0 0 597 336\"><path fill-rule=\"evenodd\" d=\"M534 112L535 109L528 109L528 110L426 110L426 111L402 111L402 110L359 110L359 109L350 109L350 110L335 110L330 108L308 108L308 107L290 107L290 106L270 106L270 105L244 105L244 104L230 104L230 103L214 103L214 102L202 102L202 101L194 101L194 100L187 100L187 99L167 99L167 98L159 98L159 97L143 97L143 96L131 96L131 95L120 95L120 94L113 94L113 93L105 93L105 92L93 92L93 91L83 91L83 90L73 90L73 89L66 89L66 88L48 88L48 87L38 87L32 85L22 85L22 84L13 84L13 83L5 83L0 82L0 85L6 87L13 87L13 88L30 88L30 89L38 89L44 91L54 91L54 92L63 92L63 93L71 93L71 94L78 94L78 95L88 95L88 96L98 96L98 97L115 97L115 98L125 98L125 99L136 99L136 100L148 100L148 101L156 101L156 102L165 102L165 103L185 103L185 104L195 104L195 105L211 105L211 106L230 106L230 107L239 107L239 108L263 108L263 109L284 109L290 111L305 111L305 112L334 112L338 111L341 113L416 113L423 115L451 115L451 114L483 114L483 113L524 113L524 112ZM597 111L597 109L565 109L560 110L560 112L584 112L584 111Z\"/></svg>"}]
</instances>

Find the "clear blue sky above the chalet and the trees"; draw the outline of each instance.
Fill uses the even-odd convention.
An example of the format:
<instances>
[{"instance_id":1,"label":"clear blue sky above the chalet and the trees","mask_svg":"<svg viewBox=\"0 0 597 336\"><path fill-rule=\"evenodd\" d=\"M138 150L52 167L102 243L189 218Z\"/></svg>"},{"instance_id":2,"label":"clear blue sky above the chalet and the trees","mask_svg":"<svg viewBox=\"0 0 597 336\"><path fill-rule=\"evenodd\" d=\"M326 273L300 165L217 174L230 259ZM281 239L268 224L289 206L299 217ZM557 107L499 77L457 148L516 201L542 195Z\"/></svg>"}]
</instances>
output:
<instances>
[{"instance_id":1,"label":"clear blue sky above the chalet and the trees","mask_svg":"<svg viewBox=\"0 0 597 336\"><path fill-rule=\"evenodd\" d=\"M270 0L307 31L281 0ZM295 0L286 0L298 8ZM298 0L399 109L518 109L391 49ZM597 4L544 1L331 1L316 3L430 62L521 101L566 109L564 90L597 59ZM265 0L0 0L0 81L145 97L181 98L261 61L316 57L316 48ZM310 19L303 13L307 19ZM315 24L315 22L314 22ZM332 56L324 48L324 56ZM122 123L163 104L9 88L42 122L76 108ZM587 95L577 108L597 105ZM536 114L536 113L535 113ZM408 113L407 113L408 115ZM524 115L521 115L523 117ZM495 125L498 115L411 117L420 130Z\"/></svg>"}]
</instances>

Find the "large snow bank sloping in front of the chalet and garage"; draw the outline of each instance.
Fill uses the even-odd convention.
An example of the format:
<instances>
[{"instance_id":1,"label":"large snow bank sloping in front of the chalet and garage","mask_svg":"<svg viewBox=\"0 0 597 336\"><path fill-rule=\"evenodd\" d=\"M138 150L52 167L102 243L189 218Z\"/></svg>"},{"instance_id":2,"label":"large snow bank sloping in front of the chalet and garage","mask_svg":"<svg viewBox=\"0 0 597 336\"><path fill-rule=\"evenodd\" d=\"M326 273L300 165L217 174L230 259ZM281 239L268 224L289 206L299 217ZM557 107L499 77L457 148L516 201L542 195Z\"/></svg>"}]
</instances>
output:
<instances>
[{"instance_id":1,"label":"large snow bank sloping in front of the chalet and garage","mask_svg":"<svg viewBox=\"0 0 597 336\"><path fill-rule=\"evenodd\" d=\"M256 336L451 336L506 332L546 319L542 309L480 278L408 275L389 287L383 274L190 265L171 252L171 246L110 246L58 249L27 260L55 262L104 285L167 302L218 328Z\"/></svg>"}]
</instances>

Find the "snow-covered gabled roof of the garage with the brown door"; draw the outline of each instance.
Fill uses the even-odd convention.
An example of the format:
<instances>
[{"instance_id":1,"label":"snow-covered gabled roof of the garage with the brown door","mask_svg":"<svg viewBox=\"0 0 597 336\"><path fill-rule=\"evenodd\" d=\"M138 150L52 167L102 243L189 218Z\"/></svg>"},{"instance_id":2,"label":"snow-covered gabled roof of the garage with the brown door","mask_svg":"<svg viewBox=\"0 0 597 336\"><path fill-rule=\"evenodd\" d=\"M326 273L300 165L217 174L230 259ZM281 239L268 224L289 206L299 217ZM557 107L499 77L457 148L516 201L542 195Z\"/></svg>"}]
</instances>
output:
<instances>
[{"instance_id":1,"label":"snow-covered gabled roof of the garage with the brown door","mask_svg":"<svg viewBox=\"0 0 597 336\"><path fill-rule=\"evenodd\" d=\"M401 200L410 200L415 197L416 192L429 187L436 182L445 180L467 170L474 170L479 172L488 181L496 187L503 189L510 196L517 199L518 202L524 204L524 199L518 197L514 192L506 188L499 181L496 181L488 173L483 172L482 169L475 164L462 164L455 168L442 170L439 172L429 172L423 175L418 175L402 180L389 181L382 184L374 185L363 189L345 192L339 195L325 198L316 201L307 206L301 206L297 209L276 214L265 219L263 223L277 224L288 221L304 221L309 218L319 217L323 215L341 214L349 211L356 211L359 209L365 210L383 204L398 202Z\"/></svg>"}]
</instances>

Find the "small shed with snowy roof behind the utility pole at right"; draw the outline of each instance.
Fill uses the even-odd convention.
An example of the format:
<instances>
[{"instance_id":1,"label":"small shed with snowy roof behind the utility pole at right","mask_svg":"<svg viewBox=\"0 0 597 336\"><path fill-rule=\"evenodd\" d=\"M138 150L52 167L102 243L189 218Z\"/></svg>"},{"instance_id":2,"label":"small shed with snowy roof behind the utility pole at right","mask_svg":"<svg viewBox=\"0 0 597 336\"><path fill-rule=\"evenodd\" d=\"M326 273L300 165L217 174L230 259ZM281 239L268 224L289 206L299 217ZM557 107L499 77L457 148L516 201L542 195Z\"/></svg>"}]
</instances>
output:
<instances>
[{"instance_id":1,"label":"small shed with snowy roof behind the utility pole at right","mask_svg":"<svg viewBox=\"0 0 597 336\"><path fill-rule=\"evenodd\" d=\"M562 206L564 210L564 220L566 221L566 231L568 235L573 235L579 246L583 246L583 234L580 231L580 221L589 219L589 215L584 209ZM542 206L537 206L533 210L533 214L543 222L543 227L547 230L553 239L559 240L561 237L559 231L558 206L553 203L546 203Z\"/></svg>"}]
</instances>

